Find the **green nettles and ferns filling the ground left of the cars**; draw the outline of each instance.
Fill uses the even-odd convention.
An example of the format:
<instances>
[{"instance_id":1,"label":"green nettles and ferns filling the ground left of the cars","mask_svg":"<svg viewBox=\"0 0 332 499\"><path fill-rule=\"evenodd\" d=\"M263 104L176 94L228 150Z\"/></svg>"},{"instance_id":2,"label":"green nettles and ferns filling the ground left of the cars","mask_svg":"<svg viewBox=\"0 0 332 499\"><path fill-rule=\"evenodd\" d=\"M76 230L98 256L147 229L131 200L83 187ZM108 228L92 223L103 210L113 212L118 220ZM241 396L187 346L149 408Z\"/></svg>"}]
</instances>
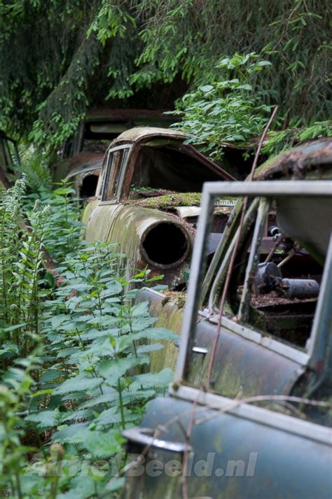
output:
<instances>
[{"instance_id":1,"label":"green nettles and ferns filling the ground left of the cars","mask_svg":"<svg viewBox=\"0 0 332 499\"><path fill-rule=\"evenodd\" d=\"M75 236L60 251L57 231L74 213L67 201L57 200L59 218L34 204L28 231L25 189L23 178L0 199L0 495L115 497L127 459L121 433L172 380L170 370L148 373L149 353L176 335L155 328L147 302L134 304L137 287L158 278L126 280L125 255L108 243ZM46 243L53 275L43 268Z\"/></svg>"}]
</instances>

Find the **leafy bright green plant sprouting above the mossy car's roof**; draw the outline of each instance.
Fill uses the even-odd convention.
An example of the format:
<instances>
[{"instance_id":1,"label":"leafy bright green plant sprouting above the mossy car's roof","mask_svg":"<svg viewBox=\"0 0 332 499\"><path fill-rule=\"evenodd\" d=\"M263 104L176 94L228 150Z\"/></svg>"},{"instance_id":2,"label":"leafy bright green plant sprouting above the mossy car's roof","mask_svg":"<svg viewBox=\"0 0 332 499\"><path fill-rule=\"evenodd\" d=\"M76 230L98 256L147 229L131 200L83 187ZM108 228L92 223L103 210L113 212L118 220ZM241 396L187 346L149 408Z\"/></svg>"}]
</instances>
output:
<instances>
[{"instance_id":1,"label":"leafy bright green plant sprouting above the mossy car's roof","mask_svg":"<svg viewBox=\"0 0 332 499\"><path fill-rule=\"evenodd\" d=\"M243 146L263 131L269 118L270 92L259 90L258 76L270 66L251 52L221 59L216 68L221 79L201 85L177 104L181 121L172 125L191 135L189 142L201 146L214 160L226 143Z\"/></svg>"}]
</instances>

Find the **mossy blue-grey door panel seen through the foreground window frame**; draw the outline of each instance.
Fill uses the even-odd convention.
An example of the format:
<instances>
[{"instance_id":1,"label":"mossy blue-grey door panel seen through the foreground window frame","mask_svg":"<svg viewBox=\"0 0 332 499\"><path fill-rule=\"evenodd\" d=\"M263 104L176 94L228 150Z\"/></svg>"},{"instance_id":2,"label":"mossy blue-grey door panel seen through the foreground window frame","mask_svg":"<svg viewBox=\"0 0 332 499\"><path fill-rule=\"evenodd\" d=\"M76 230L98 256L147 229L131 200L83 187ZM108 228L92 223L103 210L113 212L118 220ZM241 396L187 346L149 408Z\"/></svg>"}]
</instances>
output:
<instances>
[{"instance_id":1,"label":"mossy blue-grey door panel seen through the foreground window frame","mask_svg":"<svg viewBox=\"0 0 332 499\"><path fill-rule=\"evenodd\" d=\"M216 325L203 319L197 325L195 346L210 353L216 332ZM209 353L191 353L186 383L198 388L202 385L209 366ZM235 398L240 392L244 397L257 394L288 395L303 372L303 368L294 360L222 328L211 386L212 391L229 398Z\"/></svg>"}]
</instances>

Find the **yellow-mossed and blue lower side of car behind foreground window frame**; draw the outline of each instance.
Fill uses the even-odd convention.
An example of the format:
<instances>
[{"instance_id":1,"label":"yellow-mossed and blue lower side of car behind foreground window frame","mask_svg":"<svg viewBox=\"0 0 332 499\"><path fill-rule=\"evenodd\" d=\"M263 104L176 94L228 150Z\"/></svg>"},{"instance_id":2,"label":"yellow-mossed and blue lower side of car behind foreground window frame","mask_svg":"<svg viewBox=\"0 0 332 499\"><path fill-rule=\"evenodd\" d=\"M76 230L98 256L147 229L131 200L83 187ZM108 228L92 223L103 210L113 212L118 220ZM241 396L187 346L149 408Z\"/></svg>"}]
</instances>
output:
<instances>
[{"instance_id":1,"label":"yellow-mossed and blue lower side of car behind foreground window frame","mask_svg":"<svg viewBox=\"0 0 332 499\"><path fill-rule=\"evenodd\" d=\"M179 307L177 293L162 295L153 290L141 290L137 302L148 301L152 316L158 317L159 326L170 328L180 334L183 319L185 295L181 295L182 304ZM205 380L209 354L216 325L198 316L198 326L195 334L195 349L191 353L186 383L200 387ZM166 344L167 353L163 351L151 354L151 370L158 372L164 367L174 368L177 358L177 347ZM202 349L199 353L197 349ZM235 398L240 391L244 396L263 394L288 395L304 370L294 360L280 356L278 353L265 349L264 346L236 335L231 330L223 328L221 342L216 351L216 361L212 375L213 389L226 397Z\"/></svg>"}]
</instances>

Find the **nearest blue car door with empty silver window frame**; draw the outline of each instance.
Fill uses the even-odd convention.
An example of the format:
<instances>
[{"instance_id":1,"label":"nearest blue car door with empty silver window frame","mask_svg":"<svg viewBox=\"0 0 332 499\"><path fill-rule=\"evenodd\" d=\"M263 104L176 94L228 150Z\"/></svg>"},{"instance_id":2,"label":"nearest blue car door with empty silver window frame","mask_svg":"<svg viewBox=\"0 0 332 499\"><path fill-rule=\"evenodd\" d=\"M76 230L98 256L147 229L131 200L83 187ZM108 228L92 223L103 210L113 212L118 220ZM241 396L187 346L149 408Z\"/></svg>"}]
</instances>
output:
<instances>
[{"instance_id":1,"label":"nearest blue car door with empty silver window frame","mask_svg":"<svg viewBox=\"0 0 332 499\"><path fill-rule=\"evenodd\" d=\"M277 185L279 184L279 185ZM277 183L273 188L291 194L292 188L310 196L315 190L311 185L282 185ZM331 183L322 185L324 195L331 190ZM225 186L209 186L210 192L223 192ZM226 188L236 195L241 190L228 185ZM261 191L269 194L268 187L251 185L245 189L251 195ZM317 186L318 188L318 186ZM256 190L255 190L256 189ZM296 189L294 190L296 192ZM272 193L270 191L270 193ZM273 193L272 193L273 194ZM198 227L191 278L188 290L188 300L184 325L181 332L181 344L177 364L176 379L170 386L169 396L157 398L148 405L146 414L138 428L131 428L124 432L127 439L126 451L130 456L130 463L125 469L125 488L123 499L150 499L163 498L195 498L195 499L294 499L294 498L321 498L329 499L332 493L331 486L331 429L327 428L326 421L321 424L321 413L328 414L328 405L320 400L317 387L328 379L331 372L331 313L327 304L332 300L332 240L326 254L326 263L322 274L320 293L317 300L316 312L309 341L303 349L303 356L307 356L306 367L316 372L314 382L298 387L298 397L281 395L271 386L270 392L265 386L265 393L250 395L246 386L246 379L242 378L243 388L231 398L223 395L223 390L229 390L225 384L213 383L213 376L217 377L217 370L225 369L223 360L217 360L211 370L211 379L204 375L200 379L192 379L192 366L195 356L208 358L213 353L213 345L201 346L198 342L200 323L197 321L200 295L200 283L205 274L202 255L205 251L206 236L209 230L209 213L211 213L209 192L205 192L202 201L202 216ZM319 201L319 199L317 199ZM268 203L269 204L269 203ZM252 276L255 264L255 252L259 247L259 229L263 214L268 206L263 200L258 200L257 213L254 216L255 206L251 213L254 216L253 237L249 241L249 255L242 248L244 256L244 275ZM249 220L249 219L247 219ZM244 224L246 227L247 224ZM249 227L249 225L247 225ZM250 232L248 232L249 234ZM257 235L257 237L256 237ZM245 239L245 238L244 238ZM239 245L241 248L241 244ZM228 266L228 262L226 262ZM239 267L237 267L239 274ZM222 272L221 272L222 274ZM233 276L237 279L238 276ZM241 276L240 276L241 277ZM249 283L244 279L242 295L247 293ZM237 283L235 282L235 285ZM214 288L218 296L218 286ZM251 289L251 288L250 288ZM214 297L214 295L213 295ZM213 298L212 297L212 298ZM216 300L218 303L219 300ZM239 299L237 310L238 321L232 321L240 330L221 321L220 342L216 344L216 352L228 340L228 335L237 335L240 339L257 344L261 350L256 351L257 367L254 361L249 364L255 370L256 377L262 376L263 364L258 356L265 351L273 355L290 358L290 351L284 351L284 346L300 351L284 342L265 338L259 330L251 330L261 335L249 337L249 327L242 326L242 318L246 320L246 310L241 307L245 302ZM248 303L248 302L247 302ZM229 309L228 309L229 310ZM233 311L234 313L235 311ZM240 313L239 313L240 312ZM207 316L207 311L204 312ZM233 316L235 317L235 316ZM227 320L232 320L232 318ZM210 316L202 318L209 321ZM202 322L200 321L200 322ZM213 324L213 323L212 323ZM228 331L226 331L228 329ZM201 339L201 337L199 337ZM215 339L216 337L214 337ZM277 344L271 343L277 342ZM243 346L246 348L247 344ZM206 351L209 349L209 351ZM279 349L279 351L278 351ZM236 351L233 351L236 354ZM294 356L295 357L295 356ZM245 362L242 357L242 362ZM291 360L291 359L290 359ZM293 359L296 362L296 358ZM239 367L235 357L235 364ZM305 362L303 357L302 363ZM202 361L204 364L204 360ZM298 359L298 365L301 365ZM319 367L320 366L320 367ZM270 364L270 372L266 377L275 379L275 369L282 369L277 362ZM243 376L243 374L241 374ZM292 383L292 381L291 381ZM277 383L275 382L275 387ZM256 389L259 386L256 385ZM327 396L331 397L331 379ZM261 388L263 391L263 388ZM307 396L310 399L307 400ZM317 401L317 398L319 399ZM303 402L298 405L296 402ZM257 407L253 404L263 404ZM315 404L317 403L317 406ZM310 408L317 409L313 411ZM318 412L318 414L317 414Z\"/></svg>"}]
</instances>

